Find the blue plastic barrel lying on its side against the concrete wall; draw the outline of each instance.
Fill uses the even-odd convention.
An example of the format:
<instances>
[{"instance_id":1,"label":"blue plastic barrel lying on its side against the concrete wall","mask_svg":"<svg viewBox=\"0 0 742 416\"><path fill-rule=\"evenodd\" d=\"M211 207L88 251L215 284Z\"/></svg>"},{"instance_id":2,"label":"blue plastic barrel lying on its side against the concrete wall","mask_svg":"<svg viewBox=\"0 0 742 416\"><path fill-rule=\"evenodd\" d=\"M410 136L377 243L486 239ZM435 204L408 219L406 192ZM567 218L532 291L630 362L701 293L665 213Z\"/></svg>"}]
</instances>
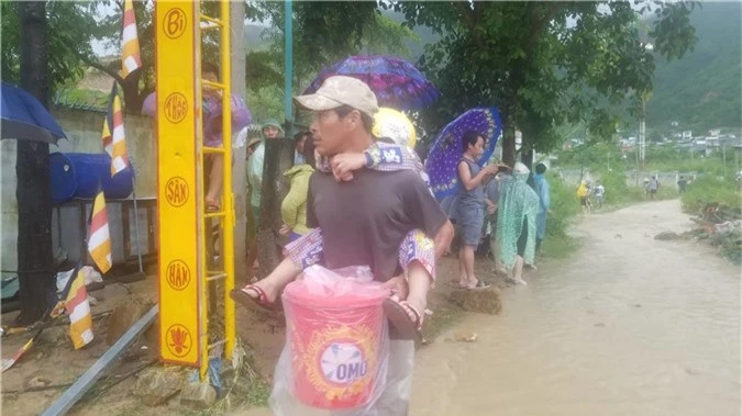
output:
<instances>
[{"instance_id":1,"label":"blue plastic barrel lying on its side against the concrete wall","mask_svg":"<svg viewBox=\"0 0 742 416\"><path fill-rule=\"evenodd\" d=\"M73 198L95 198L99 185L107 199L124 199L132 193L133 169L126 168L111 178L108 154L54 153L49 155L49 169L55 205Z\"/></svg>"}]
</instances>

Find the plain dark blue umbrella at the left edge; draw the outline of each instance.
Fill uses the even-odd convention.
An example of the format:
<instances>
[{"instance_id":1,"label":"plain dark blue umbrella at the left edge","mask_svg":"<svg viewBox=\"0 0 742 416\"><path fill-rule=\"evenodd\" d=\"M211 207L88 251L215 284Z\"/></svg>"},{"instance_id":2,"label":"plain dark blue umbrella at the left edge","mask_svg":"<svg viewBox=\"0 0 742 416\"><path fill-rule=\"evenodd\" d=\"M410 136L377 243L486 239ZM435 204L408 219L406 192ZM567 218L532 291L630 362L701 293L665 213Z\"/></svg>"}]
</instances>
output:
<instances>
[{"instance_id":1,"label":"plain dark blue umbrella at the left edge","mask_svg":"<svg viewBox=\"0 0 742 416\"><path fill-rule=\"evenodd\" d=\"M56 144L67 138L59 124L32 94L2 82L0 92L2 137Z\"/></svg>"}]
</instances>

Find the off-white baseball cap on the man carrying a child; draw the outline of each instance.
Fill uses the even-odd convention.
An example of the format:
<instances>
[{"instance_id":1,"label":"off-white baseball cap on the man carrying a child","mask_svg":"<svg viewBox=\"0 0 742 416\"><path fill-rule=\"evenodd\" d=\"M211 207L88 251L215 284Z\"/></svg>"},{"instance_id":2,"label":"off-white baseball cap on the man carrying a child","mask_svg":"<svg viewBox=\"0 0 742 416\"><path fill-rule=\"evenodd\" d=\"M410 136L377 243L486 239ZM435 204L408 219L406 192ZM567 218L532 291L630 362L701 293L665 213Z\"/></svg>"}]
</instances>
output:
<instances>
[{"instance_id":1,"label":"off-white baseball cap on the man carrying a child","mask_svg":"<svg viewBox=\"0 0 742 416\"><path fill-rule=\"evenodd\" d=\"M294 98L298 106L310 111L333 110L347 105L373 117L379 111L376 94L366 82L336 75L322 82L322 87L313 94Z\"/></svg>"}]
</instances>

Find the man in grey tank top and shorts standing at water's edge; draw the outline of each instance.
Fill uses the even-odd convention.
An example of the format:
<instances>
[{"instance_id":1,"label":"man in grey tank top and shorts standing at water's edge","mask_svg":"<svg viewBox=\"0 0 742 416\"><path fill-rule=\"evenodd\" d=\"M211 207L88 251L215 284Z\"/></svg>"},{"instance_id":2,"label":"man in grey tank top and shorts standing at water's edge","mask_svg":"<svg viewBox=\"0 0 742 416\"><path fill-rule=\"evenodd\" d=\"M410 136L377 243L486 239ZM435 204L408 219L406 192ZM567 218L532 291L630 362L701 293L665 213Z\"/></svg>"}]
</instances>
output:
<instances>
[{"instance_id":1,"label":"man in grey tank top and shorts standing at water's edge","mask_svg":"<svg viewBox=\"0 0 742 416\"><path fill-rule=\"evenodd\" d=\"M476 160L484 154L485 138L475 131L463 136L464 155L456 167L459 187L455 218L461 248L458 250L458 285L465 289L487 288L474 274L474 251L481 238L485 222L485 182L497 172L497 166L480 168Z\"/></svg>"}]
</instances>

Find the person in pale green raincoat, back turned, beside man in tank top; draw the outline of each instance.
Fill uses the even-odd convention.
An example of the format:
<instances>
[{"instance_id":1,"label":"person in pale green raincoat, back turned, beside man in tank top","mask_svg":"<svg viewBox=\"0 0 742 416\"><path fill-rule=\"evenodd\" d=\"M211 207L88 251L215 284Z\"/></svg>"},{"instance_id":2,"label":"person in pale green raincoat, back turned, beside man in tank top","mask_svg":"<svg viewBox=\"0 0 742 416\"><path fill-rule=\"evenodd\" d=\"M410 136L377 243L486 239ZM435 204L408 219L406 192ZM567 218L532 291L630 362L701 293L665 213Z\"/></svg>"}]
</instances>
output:
<instances>
[{"instance_id":1,"label":"person in pale green raincoat, back turned, beside man in tank top","mask_svg":"<svg viewBox=\"0 0 742 416\"><path fill-rule=\"evenodd\" d=\"M533 265L535 256L536 213L539 195L525 182L530 170L517 162L512 176L500 184L497 216L499 260L508 271L508 280L523 280L523 263Z\"/></svg>"}]
</instances>

